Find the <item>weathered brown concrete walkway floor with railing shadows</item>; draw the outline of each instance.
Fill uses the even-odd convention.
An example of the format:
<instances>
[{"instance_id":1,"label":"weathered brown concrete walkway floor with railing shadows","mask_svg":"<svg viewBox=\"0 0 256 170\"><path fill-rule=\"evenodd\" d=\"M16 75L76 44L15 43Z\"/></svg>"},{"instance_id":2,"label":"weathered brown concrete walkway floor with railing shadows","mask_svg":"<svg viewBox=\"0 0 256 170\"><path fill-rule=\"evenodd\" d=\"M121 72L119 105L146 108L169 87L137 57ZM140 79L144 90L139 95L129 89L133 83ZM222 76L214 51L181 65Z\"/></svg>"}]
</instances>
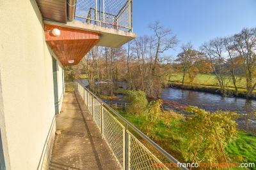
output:
<instances>
[{"instance_id":1,"label":"weathered brown concrete walkway floor with railing shadows","mask_svg":"<svg viewBox=\"0 0 256 170\"><path fill-rule=\"evenodd\" d=\"M77 92L65 93L61 111L49 169L120 169Z\"/></svg>"}]
</instances>

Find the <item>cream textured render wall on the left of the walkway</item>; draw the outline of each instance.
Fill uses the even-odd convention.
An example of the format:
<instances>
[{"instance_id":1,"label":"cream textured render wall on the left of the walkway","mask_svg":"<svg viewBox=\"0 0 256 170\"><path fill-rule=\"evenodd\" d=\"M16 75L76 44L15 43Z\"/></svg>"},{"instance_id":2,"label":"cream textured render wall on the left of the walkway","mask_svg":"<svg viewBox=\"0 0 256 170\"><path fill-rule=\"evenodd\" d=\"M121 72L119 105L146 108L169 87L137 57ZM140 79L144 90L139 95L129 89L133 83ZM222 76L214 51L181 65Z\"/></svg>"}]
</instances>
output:
<instances>
[{"instance_id":1,"label":"cream textured render wall on the left of the walkway","mask_svg":"<svg viewBox=\"0 0 256 170\"><path fill-rule=\"evenodd\" d=\"M52 51L34 0L0 1L0 23L0 128L6 169L37 169L54 119Z\"/></svg>"}]
</instances>

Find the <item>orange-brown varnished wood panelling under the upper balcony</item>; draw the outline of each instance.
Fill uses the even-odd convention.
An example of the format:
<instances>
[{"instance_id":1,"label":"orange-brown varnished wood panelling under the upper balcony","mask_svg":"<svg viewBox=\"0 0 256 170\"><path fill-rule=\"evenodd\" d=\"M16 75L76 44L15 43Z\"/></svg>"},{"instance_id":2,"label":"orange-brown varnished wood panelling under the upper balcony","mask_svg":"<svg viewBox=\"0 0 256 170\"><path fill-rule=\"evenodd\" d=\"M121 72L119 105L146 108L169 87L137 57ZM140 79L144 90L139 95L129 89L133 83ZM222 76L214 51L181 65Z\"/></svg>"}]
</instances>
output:
<instances>
[{"instance_id":1,"label":"orange-brown varnished wood panelling under the upper balcony","mask_svg":"<svg viewBox=\"0 0 256 170\"><path fill-rule=\"evenodd\" d=\"M54 28L60 30L60 36L54 36L49 32ZM63 66L78 64L99 40L100 34L96 32L45 24L45 41L51 46ZM68 60L75 62L68 63Z\"/></svg>"}]
</instances>

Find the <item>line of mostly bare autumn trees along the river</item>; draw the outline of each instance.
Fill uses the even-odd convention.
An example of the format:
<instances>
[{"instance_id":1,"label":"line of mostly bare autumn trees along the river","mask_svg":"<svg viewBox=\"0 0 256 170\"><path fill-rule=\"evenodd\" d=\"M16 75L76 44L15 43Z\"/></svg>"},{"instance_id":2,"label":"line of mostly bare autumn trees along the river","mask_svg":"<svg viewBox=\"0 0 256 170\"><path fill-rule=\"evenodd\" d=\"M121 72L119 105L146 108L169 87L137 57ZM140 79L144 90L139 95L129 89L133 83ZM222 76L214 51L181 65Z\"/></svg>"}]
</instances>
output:
<instances>
[{"instance_id":1,"label":"line of mostly bare autumn trees along the river","mask_svg":"<svg viewBox=\"0 0 256 170\"><path fill-rule=\"evenodd\" d=\"M237 81L244 77L247 96L252 96L256 87L256 27L211 39L198 50L191 43L183 44L175 57L168 54L179 43L172 30L159 22L150 24L149 29L151 36L139 36L119 48L94 46L77 66L65 68L65 80L86 74L91 90L97 87L95 83L104 81L110 96L118 89L118 81L126 81L128 89L157 97L173 74L182 74L183 86L185 78L194 83L198 73L213 73L223 94L229 82L238 92Z\"/></svg>"}]
</instances>

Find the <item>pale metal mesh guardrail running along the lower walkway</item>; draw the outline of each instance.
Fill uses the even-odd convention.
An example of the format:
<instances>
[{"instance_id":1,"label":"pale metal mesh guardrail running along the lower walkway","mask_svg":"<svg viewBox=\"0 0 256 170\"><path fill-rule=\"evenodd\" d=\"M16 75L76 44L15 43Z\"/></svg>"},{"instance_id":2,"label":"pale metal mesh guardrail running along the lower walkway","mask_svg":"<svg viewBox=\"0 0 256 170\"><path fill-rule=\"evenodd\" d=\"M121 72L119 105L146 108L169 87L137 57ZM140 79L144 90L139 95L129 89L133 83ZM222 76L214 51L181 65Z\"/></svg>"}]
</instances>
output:
<instances>
[{"instance_id":1,"label":"pale metal mesh guardrail running along the lower walkway","mask_svg":"<svg viewBox=\"0 0 256 170\"><path fill-rule=\"evenodd\" d=\"M168 167L154 167L154 164L161 165L165 161L176 163L178 169L187 169L79 82L68 82L65 87L79 92L121 169L168 169ZM143 143L135 136L140 137ZM148 149L146 146L152 147ZM152 150L158 156L152 153Z\"/></svg>"}]
</instances>

